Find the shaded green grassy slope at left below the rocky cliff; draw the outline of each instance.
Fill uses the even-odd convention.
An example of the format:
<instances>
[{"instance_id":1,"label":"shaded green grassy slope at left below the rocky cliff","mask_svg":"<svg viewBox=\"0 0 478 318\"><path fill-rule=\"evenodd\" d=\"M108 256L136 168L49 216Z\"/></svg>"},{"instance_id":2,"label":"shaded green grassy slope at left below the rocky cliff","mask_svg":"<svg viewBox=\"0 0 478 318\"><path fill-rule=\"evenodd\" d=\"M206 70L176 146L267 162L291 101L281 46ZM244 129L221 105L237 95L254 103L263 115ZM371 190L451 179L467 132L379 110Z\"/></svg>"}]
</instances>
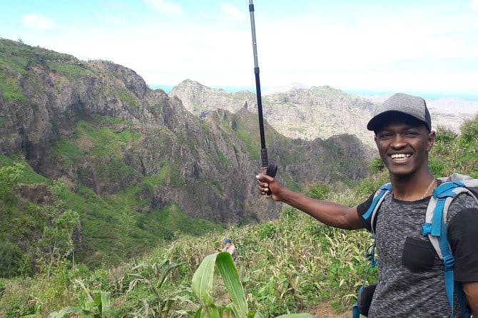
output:
<instances>
[{"instance_id":1,"label":"shaded green grassy slope at left below the rocky cliff","mask_svg":"<svg viewBox=\"0 0 478 318\"><path fill-rule=\"evenodd\" d=\"M75 143L65 141L60 147L66 150L58 154L72 160L72 165L75 158L83 155ZM68 151L72 148L76 153ZM113 178L117 168L108 174L106 166L103 178ZM41 271L39 242L66 210L78 214L78 224L69 229L67 238L74 245L75 254L68 252L68 258L76 257L76 262L79 260L89 267L119 264L128 257L165 245L180 234L202 235L223 230L223 225L188 217L176 205L148 212L137 210L136 207L145 205L141 194L151 186L151 180L101 197L86 186L44 178L22 158L6 155L0 155L0 179L0 252L6 255L0 261L2 277Z\"/></svg>"}]
</instances>

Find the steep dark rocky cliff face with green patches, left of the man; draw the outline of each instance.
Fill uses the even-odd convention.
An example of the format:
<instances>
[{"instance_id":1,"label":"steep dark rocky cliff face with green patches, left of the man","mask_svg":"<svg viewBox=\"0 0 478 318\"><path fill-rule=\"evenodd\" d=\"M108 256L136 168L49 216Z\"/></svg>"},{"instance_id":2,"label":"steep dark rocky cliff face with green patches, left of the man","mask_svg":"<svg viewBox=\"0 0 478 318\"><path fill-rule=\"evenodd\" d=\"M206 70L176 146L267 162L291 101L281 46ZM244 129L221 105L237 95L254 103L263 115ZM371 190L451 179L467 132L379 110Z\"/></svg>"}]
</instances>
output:
<instances>
[{"instance_id":1,"label":"steep dark rocky cliff face with green patches, left of the man","mask_svg":"<svg viewBox=\"0 0 478 318\"><path fill-rule=\"evenodd\" d=\"M112 196L136 187L138 212L176 204L215 222L277 217L280 206L255 188L257 115L238 111L255 96L238 93L220 102L230 110L195 116L183 106L193 102L173 95L108 61L0 40L0 152L73 190ZM266 138L286 184L360 178L370 158L350 135L291 140L266 125Z\"/></svg>"}]
</instances>

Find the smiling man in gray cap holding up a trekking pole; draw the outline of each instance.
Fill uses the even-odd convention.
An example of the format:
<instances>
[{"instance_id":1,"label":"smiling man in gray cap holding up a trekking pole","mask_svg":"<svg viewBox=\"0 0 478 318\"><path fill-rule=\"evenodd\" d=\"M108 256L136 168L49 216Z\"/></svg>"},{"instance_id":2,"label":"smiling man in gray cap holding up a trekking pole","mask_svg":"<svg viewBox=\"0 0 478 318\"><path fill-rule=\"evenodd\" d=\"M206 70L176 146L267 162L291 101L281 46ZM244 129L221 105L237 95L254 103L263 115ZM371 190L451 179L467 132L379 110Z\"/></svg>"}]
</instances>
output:
<instances>
[{"instance_id":1,"label":"smiling man in gray cap holding up a trekking pole","mask_svg":"<svg viewBox=\"0 0 478 318\"><path fill-rule=\"evenodd\" d=\"M375 143L392 183L375 221L380 255L379 282L369 317L450 317L444 288L443 262L422 224L427 205L439 180L428 168L428 153L435 133L423 98L397 93L375 110L367 124L375 132ZM373 195L360 205L346 207L295 193L269 175L258 175L258 189L273 200L306 212L333 227L371 230L362 215ZM455 258L454 279L462 282L474 317L478 317L478 205L461 194L449 207L448 240ZM456 298L456 297L455 297ZM457 301L454 317L462 317Z\"/></svg>"}]
</instances>

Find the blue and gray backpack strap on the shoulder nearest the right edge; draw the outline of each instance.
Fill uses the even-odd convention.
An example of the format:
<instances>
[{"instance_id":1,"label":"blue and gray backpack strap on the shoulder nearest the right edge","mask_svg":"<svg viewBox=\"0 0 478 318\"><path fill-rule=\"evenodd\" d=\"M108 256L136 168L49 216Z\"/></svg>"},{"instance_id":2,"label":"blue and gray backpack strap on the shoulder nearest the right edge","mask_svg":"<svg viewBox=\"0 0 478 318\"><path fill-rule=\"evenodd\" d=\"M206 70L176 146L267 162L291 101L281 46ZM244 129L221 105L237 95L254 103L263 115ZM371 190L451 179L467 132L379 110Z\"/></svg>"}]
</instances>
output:
<instances>
[{"instance_id":1,"label":"blue and gray backpack strap on the shoulder nearest the right edge","mask_svg":"<svg viewBox=\"0 0 478 318\"><path fill-rule=\"evenodd\" d=\"M429 240L437 251L439 258L443 261L445 290L447 292L449 306L452 309L452 315L450 318L454 317L454 257L447 240L446 220L449 206L460 193L469 193L476 199L476 196L465 187L464 183L459 181L445 182L435 188L427 207L424 225L422 226L422 234L429 237ZM469 317L466 307L466 299L464 298L462 288L457 288L457 295L463 317Z\"/></svg>"}]
</instances>

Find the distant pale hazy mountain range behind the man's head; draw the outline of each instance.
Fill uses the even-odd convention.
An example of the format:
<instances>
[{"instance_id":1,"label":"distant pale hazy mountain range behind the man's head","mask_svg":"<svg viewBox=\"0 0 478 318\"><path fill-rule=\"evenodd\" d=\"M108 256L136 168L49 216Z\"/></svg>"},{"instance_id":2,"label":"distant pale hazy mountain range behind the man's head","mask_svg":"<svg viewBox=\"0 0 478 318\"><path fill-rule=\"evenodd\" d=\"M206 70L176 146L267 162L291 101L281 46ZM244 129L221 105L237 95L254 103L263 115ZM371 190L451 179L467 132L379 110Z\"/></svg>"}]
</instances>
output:
<instances>
[{"instance_id":1,"label":"distant pale hazy mountain range behind the man's head","mask_svg":"<svg viewBox=\"0 0 478 318\"><path fill-rule=\"evenodd\" d=\"M250 91L227 92L185 80L175 86L171 96L183 101L190 113L205 117L214 109L235 113L246 109L257 113L257 97ZM305 88L291 84L263 94L263 116L278 132L289 138L314 140L340 133L356 135L362 143L375 148L373 135L365 128L374 108L388 96L355 96L330 86ZM478 113L478 102L458 98L427 101L434 129L446 128L459 133L464 120Z\"/></svg>"}]
</instances>

